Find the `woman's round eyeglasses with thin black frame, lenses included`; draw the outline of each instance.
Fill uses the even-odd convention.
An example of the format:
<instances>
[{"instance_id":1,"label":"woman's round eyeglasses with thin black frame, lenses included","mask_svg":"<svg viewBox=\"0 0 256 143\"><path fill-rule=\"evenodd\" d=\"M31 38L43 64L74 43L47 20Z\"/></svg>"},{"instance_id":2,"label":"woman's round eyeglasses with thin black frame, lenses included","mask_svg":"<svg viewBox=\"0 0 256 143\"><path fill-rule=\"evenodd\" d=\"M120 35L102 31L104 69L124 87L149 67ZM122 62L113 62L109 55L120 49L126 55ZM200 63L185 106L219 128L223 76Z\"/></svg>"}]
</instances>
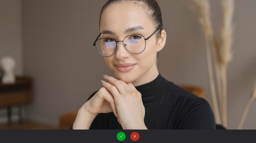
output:
<instances>
[{"instance_id":1,"label":"woman's round eyeglasses with thin black frame, lenses included","mask_svg":"<svg viewBox=\"0 0 256 143\"><path fill-rule=\"evenodd\" d=\"M159 28L155 30L157 32ZM124 37L123 41L116 41L113 38L101 38L101 34L94 41L93 46L99 52L101 56L109 57L112 56L117 50L117 42L123 42L124 47L132 54L139 54L143 52L146 48L146 40L152 37L155 32L153 32L149 37L145 38L143 35L135 34Z\"/></svg>"}]
</instances>

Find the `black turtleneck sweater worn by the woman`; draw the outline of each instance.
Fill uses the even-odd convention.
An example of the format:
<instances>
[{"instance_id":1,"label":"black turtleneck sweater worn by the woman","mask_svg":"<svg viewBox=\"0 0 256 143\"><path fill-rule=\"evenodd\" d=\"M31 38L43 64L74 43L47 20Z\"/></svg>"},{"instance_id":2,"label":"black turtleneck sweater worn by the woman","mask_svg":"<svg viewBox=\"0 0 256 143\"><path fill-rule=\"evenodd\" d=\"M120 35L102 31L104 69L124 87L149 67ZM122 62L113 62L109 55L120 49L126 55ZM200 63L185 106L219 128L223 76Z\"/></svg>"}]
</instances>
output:
<instances>
[{"instance_id":1,"label":"black turtleneck sweater worn by the woman","mask_svg":"<svg viewBox=\"0 0 256 143\"><path fill-rule=\"evenodd\" d=\"M211 106L204 98L169 82L160 74L152 82L136 89L142 95L144 121L148 129L216 129ZM98 114L90 129L122 127L112 112Z\"/></svg>"}]
</instances>

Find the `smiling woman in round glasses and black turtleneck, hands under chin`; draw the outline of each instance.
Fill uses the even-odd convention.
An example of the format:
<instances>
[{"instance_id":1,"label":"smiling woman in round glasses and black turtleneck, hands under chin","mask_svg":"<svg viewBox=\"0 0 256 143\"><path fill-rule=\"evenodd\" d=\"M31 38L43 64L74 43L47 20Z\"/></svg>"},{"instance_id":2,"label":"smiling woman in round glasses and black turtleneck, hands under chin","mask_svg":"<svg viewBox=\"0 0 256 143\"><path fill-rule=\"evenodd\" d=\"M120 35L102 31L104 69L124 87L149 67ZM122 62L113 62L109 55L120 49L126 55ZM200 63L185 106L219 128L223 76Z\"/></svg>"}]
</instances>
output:
<instances>
[{"instance_id":1,"label":"smiling woman in round glasses and black turtleneck, hands under chin","mask_svg":"<svg viewBox=\"0 0 256 143\"><path fill-rule=\"evenodd\" d=\"M109 0L99 24L94 46L115 77L103 76L72 129L216 129L206 100L158 72L166 31L155 0Z\"/></svg>"}]
</instances>

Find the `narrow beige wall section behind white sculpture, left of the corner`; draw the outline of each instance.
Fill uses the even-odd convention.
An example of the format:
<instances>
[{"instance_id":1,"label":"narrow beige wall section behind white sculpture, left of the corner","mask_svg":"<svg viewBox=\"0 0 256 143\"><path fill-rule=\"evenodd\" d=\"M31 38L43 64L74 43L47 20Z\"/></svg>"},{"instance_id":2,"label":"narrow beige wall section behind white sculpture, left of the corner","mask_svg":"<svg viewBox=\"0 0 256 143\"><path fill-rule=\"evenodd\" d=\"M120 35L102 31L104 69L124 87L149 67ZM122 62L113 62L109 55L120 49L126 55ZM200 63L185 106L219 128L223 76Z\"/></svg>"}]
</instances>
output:
<instances>
[{"instance_id":1,"label":"narrow beige wall section behind white sculpture, left of the corner","mask_svg":"<svg viewBox=\"0 0 256 143\"><path fill-rule=\"evenodd\" d=\"M0 58L12 56L19 75L23 72L21 19L21 0L0 0Z\"/></svg>"}]
</instances>

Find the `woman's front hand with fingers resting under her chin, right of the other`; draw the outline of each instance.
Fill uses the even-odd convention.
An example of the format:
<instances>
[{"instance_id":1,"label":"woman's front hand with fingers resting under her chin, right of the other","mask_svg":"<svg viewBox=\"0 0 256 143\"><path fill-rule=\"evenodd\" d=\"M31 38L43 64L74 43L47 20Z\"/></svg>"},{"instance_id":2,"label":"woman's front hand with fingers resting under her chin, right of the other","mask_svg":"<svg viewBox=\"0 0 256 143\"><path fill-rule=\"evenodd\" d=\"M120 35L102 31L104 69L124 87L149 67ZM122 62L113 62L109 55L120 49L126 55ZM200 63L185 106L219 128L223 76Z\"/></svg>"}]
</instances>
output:
<instances>
[{"instance_id":1,"label":"woman's front hand with fingers resting under her chin, right of the other","mask_svg":"<svg viewBox=\"0 0 256 143\"><path fill-rule=\"evenodd\" d=\"M101 81L115 100L119 123L123 129L147 129L144 123L145 107L141 93L132 83L126 83L111 76Z\"/></svg>"}]
</instances>

